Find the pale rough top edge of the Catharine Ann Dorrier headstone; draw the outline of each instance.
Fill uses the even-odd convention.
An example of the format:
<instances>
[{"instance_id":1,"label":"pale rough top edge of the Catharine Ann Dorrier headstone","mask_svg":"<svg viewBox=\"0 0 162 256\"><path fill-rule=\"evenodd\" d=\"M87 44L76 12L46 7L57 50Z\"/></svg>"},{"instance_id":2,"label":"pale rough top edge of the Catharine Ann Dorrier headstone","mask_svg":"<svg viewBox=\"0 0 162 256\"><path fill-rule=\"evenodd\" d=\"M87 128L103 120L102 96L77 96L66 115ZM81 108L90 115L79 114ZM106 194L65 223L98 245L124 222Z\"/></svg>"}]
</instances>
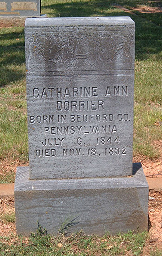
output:
<instances>
[{"instance_id":1,"label":"pale rough top edge of the Catharine Ann Dorrier headstone","mask_svg":"<svg viewBox=\"0 0 162 256\"><path fill-rule=\"evenodd\" d=\"M135 27L134 21L126 17L68 17L68 18L27 18L25 30L32 27L56 26L128 26Z\"/></svg>"}]
</instances>

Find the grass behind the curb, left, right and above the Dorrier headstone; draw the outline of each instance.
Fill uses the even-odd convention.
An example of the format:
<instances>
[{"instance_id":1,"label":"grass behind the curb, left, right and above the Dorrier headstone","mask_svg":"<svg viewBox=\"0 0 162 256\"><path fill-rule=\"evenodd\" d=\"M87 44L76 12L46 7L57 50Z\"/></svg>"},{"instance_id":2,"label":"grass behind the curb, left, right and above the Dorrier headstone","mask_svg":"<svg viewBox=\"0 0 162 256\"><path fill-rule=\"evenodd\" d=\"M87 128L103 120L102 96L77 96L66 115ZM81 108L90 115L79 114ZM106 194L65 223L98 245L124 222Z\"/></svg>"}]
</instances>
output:
<instances>
[{"instance_id":1,"label":"grass behind the curb, left, right and above the Dorrier headstone","mask_svg":"<svg viewBox=\"0 0 162 256\"><path fill-rule=\"evenodd\" d=\"M133 15L115 8L114 0L43 0L49 17L130 16L136 23L134 156L154 159L162 137L162 15ZM116 0L127 8L161 6L147 0ZM159 26L160 24L160 26ZM157 125L159 124L159 125ZM0 29L0 158L28 158L24 28ZM12 181L4 178L2 182Z\"/></svg>"}]
</instances>

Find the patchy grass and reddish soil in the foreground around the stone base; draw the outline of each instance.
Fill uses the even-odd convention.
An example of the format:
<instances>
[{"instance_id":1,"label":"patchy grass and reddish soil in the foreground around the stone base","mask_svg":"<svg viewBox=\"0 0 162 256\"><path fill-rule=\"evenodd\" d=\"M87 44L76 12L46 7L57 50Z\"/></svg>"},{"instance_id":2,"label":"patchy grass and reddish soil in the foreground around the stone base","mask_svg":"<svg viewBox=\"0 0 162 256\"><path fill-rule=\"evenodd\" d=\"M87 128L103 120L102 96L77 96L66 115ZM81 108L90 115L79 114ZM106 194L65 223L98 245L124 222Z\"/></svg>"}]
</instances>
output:
<instances>
[{"instance_id":1,"label":"patchy grass and reddish soil in the foreground around the stone base","mask_svg":"<svg viewBox=\"0 0 162 256\"><path fill-rule=\"evenodd\" d=\"M118 233L85 236L84 231L67 236L72 220L60 223L60 230L55 236L46 234L43 227L38 226L36 234L30 237L16 236L14 199L0 200L0 256L161 256L162 255L162 192L149 191L149 232L127 234ZM69 224L68 228L68 222ZM75 222L75 221L74 221ZM66 228L67 229L63 229ZM77 230L77 228L76 228ZM60 231L65 231L62 234Z\"/></svg>"}]
</instances>

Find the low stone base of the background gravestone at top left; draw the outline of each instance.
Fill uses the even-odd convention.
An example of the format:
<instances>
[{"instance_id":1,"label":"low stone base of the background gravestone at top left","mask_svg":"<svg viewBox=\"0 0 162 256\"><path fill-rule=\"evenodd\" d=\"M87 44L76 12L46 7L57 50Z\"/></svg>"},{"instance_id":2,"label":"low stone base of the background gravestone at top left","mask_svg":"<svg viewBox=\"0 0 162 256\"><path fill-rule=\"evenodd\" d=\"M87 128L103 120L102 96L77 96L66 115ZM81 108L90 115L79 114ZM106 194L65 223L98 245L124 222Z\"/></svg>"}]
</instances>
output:
<instances>
[{"instance_id":1,"label":"low stone base of the background gravestone at top left","mask_svg":"<svg viewBox=\"0 0 162 256\"><path fill-rule=\"evenodd\" d=\"M0 16L0 27L24 27L26 18L32 17ZM42 14L38 18L47 18L47 15Z\"/></svg>"}]
</instances>

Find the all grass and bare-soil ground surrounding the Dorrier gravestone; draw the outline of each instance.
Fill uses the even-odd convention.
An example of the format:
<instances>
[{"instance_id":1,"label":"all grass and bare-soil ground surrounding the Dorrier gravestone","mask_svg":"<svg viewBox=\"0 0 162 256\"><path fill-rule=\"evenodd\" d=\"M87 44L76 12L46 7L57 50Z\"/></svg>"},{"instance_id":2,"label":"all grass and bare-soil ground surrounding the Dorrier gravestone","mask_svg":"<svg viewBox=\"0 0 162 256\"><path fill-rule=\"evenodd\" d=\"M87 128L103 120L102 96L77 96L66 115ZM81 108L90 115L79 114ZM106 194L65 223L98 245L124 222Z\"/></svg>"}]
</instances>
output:
<instances>
[{"instance_id":1,"label":"all grass and bare-soil ground surrounding the Dorrier gravestone","mask_svg":"<svg viewBox=\"0 0 162 256\"><path fill-rule=\"evenodd\" d=\"M44 0L49 17L130 16L136 24L134 161L162 175L162 3L157 0ZM0 28L0 183L28 165L24 27ZM14 200L0 201L2 255L162 255L162 191L149 191L149 233L104 237L16 236ZM154 199L153 199L154 198ZM44 227L45 228L45 227ZM3 231L3 232L2 232Z\"/></svg>"}]
</instances>

